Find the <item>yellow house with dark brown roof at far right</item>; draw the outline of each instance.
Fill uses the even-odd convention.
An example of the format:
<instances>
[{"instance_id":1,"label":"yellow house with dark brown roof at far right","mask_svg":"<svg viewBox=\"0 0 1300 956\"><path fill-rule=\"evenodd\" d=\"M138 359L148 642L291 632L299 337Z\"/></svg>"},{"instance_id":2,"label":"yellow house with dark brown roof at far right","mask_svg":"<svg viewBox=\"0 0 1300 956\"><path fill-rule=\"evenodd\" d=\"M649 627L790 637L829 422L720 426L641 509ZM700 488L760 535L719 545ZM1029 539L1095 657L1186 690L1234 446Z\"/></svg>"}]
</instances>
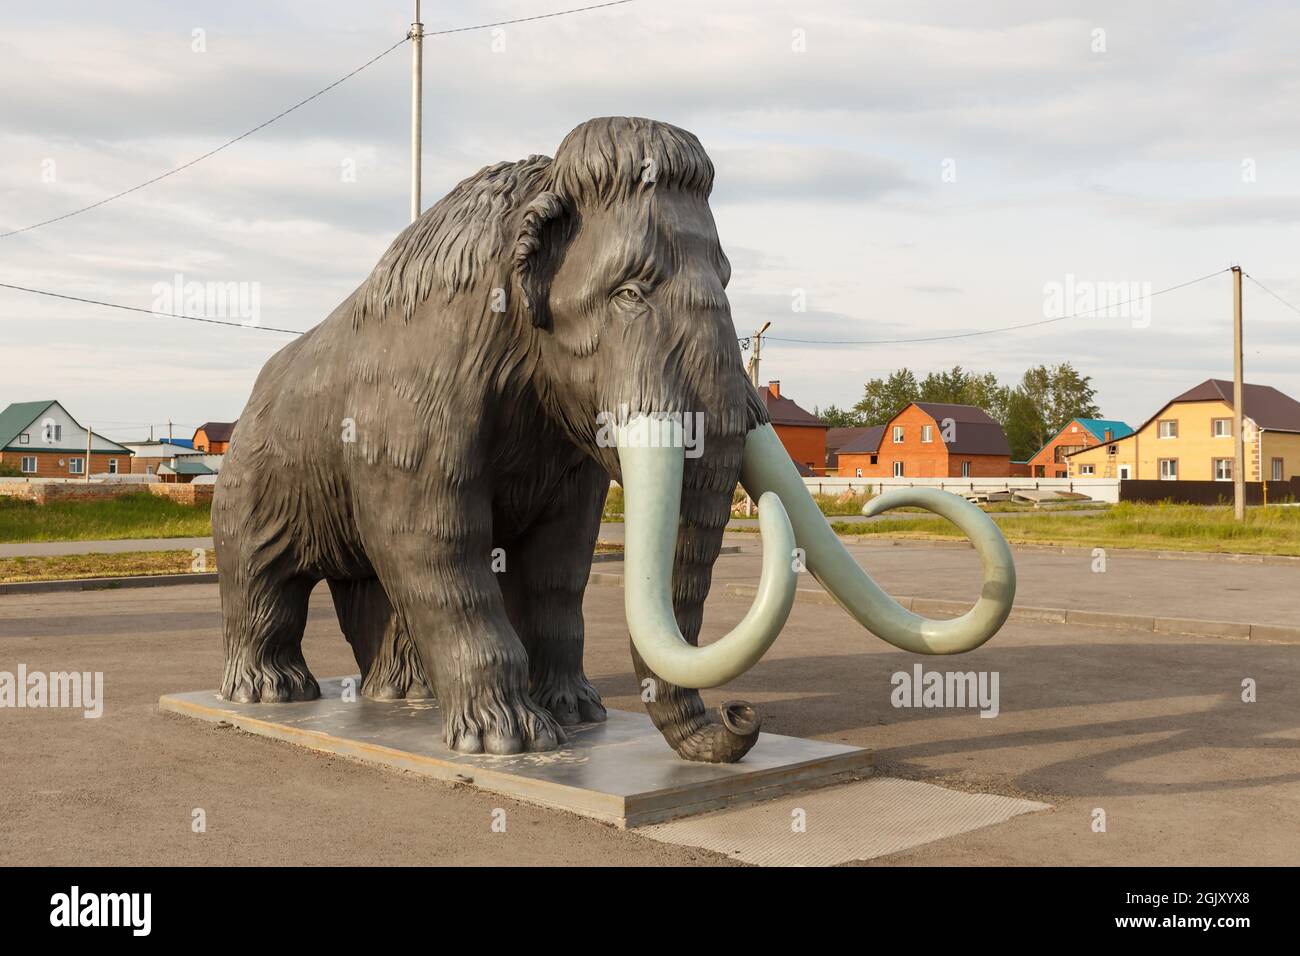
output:
<instances>
[{"instance_id":1,"label":"yellow house with dark brown roof at far right","mask_svg":"<svg viewBox=\"0 0 1300 956\"><path fill-rule=\"evenodd\" d=\"M1300 402L1244 385L1245 480L1300 475ZM1209 378L1167 402L1136 432L1069 457L1070 477L1232 480L1232 382Z\"/></svg>"}]
</instances>

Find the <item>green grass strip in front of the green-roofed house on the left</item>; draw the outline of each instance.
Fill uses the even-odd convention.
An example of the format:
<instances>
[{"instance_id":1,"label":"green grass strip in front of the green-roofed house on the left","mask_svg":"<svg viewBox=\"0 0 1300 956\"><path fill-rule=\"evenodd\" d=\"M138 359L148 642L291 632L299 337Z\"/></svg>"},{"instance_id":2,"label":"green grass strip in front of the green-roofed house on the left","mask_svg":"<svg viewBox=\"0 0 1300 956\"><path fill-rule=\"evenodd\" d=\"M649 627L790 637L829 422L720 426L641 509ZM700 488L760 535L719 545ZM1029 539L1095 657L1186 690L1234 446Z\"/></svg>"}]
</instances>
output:
<instances>
[{"instance_id":1,"label":"green grass strip in front of the green-roofed house on the left","mask_svg":"<svg viewBox=\"0 0 1300 956\"><path fill-rule=\"evenodd\" d=\"M0 497L0 542L208 537L211 511L211 505L181 505L150 492L46 505Z\"/></svg>"}]
</instances>

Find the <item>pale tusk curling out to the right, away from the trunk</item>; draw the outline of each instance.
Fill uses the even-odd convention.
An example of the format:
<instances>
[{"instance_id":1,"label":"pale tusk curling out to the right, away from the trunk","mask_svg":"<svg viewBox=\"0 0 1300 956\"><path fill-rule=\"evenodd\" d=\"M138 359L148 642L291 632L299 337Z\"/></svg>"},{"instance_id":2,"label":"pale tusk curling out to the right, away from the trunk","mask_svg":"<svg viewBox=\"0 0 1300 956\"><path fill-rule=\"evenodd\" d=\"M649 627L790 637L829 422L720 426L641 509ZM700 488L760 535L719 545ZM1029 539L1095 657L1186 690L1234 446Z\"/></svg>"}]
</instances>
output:
<instances>
[{"instance_id":1,"label":"pale tusk curling out to the right, away from the trunk","mask_svg":"<svg viewBox=\"0 0 1300 956\"><path fill-rule=\"evenodd\" d=\"M900 488L872 498L862 510L876 515L902 506L942 515L970 537L984 563L979 601L953 620L931 620L900 605L858 567L812 501L803 479L771 425L745 438L741 484L751 494L776 492L794 525L807 570L859 624L896 648L916 654L961 654L987 641L1006 620L1015 600L1015 563L997 524L956 494L935 488Z\"/></svg>"}]
</instances>

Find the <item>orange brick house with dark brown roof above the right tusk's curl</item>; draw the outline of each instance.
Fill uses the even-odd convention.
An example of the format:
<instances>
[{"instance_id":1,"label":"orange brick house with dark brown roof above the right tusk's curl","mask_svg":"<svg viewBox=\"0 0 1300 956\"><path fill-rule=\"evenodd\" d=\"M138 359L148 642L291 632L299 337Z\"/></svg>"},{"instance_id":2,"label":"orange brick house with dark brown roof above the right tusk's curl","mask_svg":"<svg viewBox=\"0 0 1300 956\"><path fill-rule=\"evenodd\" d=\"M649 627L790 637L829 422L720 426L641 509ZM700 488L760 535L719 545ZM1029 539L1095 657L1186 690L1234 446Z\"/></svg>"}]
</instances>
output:
<instances>
[{"instance_id":1,"label":"orange brick house with dark brown roof above the right tusk's curl","mask_svg":"<svg viewBox=\"0 0 1300 956\"><path fill-rule=\"evenodd\" d=\"M838 451L844 477L1008 477L1002 427L970 405L913 402Z\"/></svg>"}]
</instances>

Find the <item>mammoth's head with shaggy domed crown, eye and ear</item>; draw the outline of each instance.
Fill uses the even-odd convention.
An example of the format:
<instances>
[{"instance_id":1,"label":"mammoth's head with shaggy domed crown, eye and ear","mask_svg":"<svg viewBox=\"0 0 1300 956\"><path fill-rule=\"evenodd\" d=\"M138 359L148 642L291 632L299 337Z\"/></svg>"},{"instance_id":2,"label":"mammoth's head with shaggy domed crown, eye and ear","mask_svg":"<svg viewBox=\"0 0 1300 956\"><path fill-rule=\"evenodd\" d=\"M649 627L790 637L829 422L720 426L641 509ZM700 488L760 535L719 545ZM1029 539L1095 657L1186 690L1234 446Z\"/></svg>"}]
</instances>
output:
<instances>
[{"instance_id":1,"label":"mammoth's head with shaggy domed crown, eye and ear","mask_svg":"<svg viewBox=\"0 0 1300 956\"><path fill-rule=\"evenodd\" d=\"M690 133L592 120L564 138L519 213L514 290L538 332L542 388L615 475L618 460L585 432L602 412L701 414L711 436L737 442L757 424L712 181Z\"/></svg>"}]
</instances>

